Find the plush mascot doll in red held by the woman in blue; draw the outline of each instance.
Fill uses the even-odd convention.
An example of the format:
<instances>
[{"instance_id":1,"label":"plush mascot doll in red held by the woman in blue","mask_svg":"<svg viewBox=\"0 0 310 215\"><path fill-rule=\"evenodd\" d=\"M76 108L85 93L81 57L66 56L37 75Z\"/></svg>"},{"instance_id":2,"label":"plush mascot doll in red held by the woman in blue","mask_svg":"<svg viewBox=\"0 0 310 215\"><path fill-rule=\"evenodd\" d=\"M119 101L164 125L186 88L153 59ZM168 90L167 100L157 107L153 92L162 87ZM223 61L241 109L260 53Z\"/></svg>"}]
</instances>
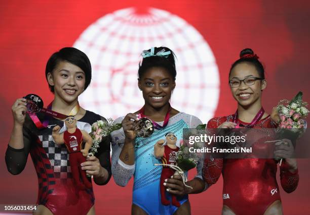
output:
<instances>
[{"instance_id":1,"label":"plush mascot doll in red held by the woman in blue","mask_svg":"<svg viewBox=\"0 0 310 215\"><path fill-rule=\"evenodd\" d=\"M176 165L177 162L177 151L179 150L179 147L176 146L177 138L173 133L168 133L165 135L165 140L159 140L154 145L154 155L157 158L162 158L163 164L168 165ZM166 143L166 144L165 144ZM169 168L169 166L163 166L163 171L161 175L161 200L163 205L169 205L170 201L166 197L166 187L164 186L165 179L169 179L173 174L174 170ZM167 193L169 194L169 193ZM175 195L171 194L172 196L172 204L176 207L180 206L180 203L178 202Z\"/></svg>"}]
</instances>

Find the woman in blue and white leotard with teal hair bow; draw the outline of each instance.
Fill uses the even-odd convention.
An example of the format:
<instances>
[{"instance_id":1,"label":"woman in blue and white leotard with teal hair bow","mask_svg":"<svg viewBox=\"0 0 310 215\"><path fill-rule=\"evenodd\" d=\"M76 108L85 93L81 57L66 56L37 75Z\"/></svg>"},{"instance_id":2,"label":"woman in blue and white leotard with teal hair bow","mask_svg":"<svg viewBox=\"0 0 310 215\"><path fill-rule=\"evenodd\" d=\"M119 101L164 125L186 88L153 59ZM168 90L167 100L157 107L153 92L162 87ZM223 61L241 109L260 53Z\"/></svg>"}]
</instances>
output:
<instances>
[{"instance_id":1,"label":"woman in blue and white leotard with teal hair bow","mask_svg":"<svg viewBox=\"0 0 310 215\"><path fill-rule=\"evenodd\" d=\"M167 47L155 47L142 52L142 63L139 65L138 86L142 91L144 106L134 114L127 114L115 120L122 123L123 128L111 133L112 137L112 175L115 183L126 186L134 176L132 214L190 214L188 195L206 189L202 180L202 163L197 166L197 176L188 181L193 187L183 185L180 176L167 179L167 198L171 194L177 196L180 207L161 203L160 178L161 159L156 158L154 144L163 139L165 134L172 132L182 140L183 128L196 128L202 122L191 116L173 109L169 100L175 87L176 69L174 53ZM145 115L158 126L147 138L136 137L133 131L137 115ZM177 142L179 146L180 142Z\"/></svg>"}]
</instances>

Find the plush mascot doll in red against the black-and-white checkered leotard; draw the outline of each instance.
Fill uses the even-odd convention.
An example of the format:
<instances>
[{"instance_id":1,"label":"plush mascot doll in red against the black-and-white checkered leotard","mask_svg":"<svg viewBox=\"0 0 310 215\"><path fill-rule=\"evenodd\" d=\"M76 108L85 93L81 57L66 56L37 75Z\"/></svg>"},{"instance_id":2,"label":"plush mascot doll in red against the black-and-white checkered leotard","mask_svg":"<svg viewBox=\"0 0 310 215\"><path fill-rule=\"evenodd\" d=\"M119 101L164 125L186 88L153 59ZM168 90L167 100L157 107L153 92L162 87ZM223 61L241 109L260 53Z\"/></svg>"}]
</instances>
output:
<instances>
[{"instance_id":1,"label":"plush mascot doll in red against the black-and-white checkered leotard","mask_svg":"<svg viewBox=\"0 0 310 215\"><path fill-rule=\"evenodd\" d=\"M66 145L69 153L71 173L76 186L81 190L91 188L92 183L88 180L86 171L81 169L81 163L86 162L86 156L88 156L88 151L93 145L93 139L86 131L76 127L76 119L72 116L65 119L65 126L67 130L62 133L59 133L60 126L53 128L52 136L54 142ZM82 149L83 140L86 143L84 149Z\"/></svg>"}]
</instances>

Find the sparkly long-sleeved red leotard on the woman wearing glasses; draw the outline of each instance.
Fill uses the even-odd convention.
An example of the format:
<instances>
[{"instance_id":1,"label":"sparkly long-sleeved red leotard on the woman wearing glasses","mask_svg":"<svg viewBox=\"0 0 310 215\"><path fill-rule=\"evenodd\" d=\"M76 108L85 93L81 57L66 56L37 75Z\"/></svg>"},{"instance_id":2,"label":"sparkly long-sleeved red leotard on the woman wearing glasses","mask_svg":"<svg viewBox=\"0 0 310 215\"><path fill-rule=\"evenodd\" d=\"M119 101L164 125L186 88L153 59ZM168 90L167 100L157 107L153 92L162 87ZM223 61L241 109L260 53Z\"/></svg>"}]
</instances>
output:
<instances>
[{"instance_id":1,"label":"sparkly long-sleeved red leotard on the woman wearing glasses","mask_svg":"<svg viewBox=\"0 0 310 215\"><path fill-rule=\"evenodd\" d=\"M223 122L232 122L233 115L213 118L207 128L217 128ZM247 123L239 121L246 125ZM254 128L275 128L270 116L260 120ZM281 200L276 180L277 162L275 159L222 159L206 158L203 176L211 185L223 175L223 204L236 214L263 214L270 204ZM292 174L285 162L280 167L283 189L290 193L298 185L298 170Z\"/></svg>"}]
</instances>

